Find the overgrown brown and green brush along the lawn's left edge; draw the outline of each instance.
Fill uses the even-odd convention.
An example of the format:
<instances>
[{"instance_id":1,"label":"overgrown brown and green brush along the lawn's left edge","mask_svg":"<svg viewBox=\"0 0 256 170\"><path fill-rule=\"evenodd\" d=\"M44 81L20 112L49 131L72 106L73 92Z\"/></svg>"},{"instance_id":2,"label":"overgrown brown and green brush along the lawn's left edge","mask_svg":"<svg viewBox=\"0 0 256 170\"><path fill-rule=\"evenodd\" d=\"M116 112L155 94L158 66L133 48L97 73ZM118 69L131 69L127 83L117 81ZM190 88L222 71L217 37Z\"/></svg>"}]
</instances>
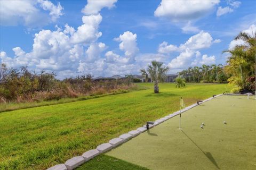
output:
<instances>
[{"instance_id":1,"label":"overgrown brown and green brush along the lawn's left edge","mask_svg":"<svg viewBox=\"0 0 256 170\"><path fill-rule=\"evenodd\" d=\"M91 74L58 80L54 72L31 72L27 67L0 65L0 103L27 102L102 95L136 88L130 79L93 80Z\"/></svg>"}]
</instances>

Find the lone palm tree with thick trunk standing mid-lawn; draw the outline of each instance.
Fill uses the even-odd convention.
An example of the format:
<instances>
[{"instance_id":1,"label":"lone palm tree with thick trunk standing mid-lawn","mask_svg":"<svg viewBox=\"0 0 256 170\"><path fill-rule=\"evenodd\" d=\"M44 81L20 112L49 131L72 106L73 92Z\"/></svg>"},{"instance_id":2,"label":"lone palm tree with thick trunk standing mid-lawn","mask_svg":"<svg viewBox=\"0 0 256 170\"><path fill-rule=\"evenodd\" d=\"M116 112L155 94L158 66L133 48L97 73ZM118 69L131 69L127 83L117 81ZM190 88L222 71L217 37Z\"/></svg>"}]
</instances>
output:
<instances>
[{"instance_id":1,"label":"lone palm tree with thick trunk standing mid-lawn","mask_svg":"<svg viewBox=\"0 0 256 170\"><path fill-rule=\"evenodd\" d=\"M163 82L166 77L166 73L169 70L168 66L163 66L162 62L152 61L151 65L148 65L148 73L150 74L151 80L154 81L154 92L159 92L158 82Z\"/></svg>"}]
</instances>

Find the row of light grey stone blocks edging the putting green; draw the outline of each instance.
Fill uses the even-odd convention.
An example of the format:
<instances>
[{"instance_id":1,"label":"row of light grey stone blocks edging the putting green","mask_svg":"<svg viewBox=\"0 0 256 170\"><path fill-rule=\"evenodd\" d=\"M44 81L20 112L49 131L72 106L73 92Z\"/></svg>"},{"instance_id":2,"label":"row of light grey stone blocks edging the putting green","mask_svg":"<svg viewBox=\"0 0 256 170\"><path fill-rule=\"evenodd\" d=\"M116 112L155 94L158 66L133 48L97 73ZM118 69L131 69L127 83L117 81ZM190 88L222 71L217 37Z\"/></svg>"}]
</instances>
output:
<instances>
[{"instance_id":1,"label":"row of light grey stone blocks edging the putting green","mask_svg":"<svg viewBox=\"0 0 256 170\"><path fill-rule=\"evenodd\" d=\"M215 97L219 97L221 95L223 95L223 94L216 95L214 97L205 99L201 103L205 103L206 101L209 101L209 100L211 100ZM177 111L177 112L171 113L165 117L159 118L158 120L155 121L154 124L149 124L149 128L154 128L158 124L161 124L161 123L169 120L170 118L177 116L179 114L182 114L183 112L186 112L189 109L196 107L196 106L197 106L197 104L195 103L186 108L183 108L181 111ZM89 161L90 159L94 158L95 156L98 156L99 154L101 154L103 152L109 151L109 150L117 147L118 145L121 145L122 143L129 141L130 139L137 137L137 135L139 135L140 133L143 133L145 131L147 131L147 128L146 128L146 125L143 125L142 127L138 128L137 130L133 130L128 133L124 133L124 134L120 135L119 138L114 138L114 139L109 140L108 143L102 143L96 149L92 149L92 150L84 152L84 154L82 156L73 157L71 159L68 159L64 164L55 165L53 167L48 168L47 170L75 169L76 167L84 164L85 162Z\"/></svg>"}]
</instances>

